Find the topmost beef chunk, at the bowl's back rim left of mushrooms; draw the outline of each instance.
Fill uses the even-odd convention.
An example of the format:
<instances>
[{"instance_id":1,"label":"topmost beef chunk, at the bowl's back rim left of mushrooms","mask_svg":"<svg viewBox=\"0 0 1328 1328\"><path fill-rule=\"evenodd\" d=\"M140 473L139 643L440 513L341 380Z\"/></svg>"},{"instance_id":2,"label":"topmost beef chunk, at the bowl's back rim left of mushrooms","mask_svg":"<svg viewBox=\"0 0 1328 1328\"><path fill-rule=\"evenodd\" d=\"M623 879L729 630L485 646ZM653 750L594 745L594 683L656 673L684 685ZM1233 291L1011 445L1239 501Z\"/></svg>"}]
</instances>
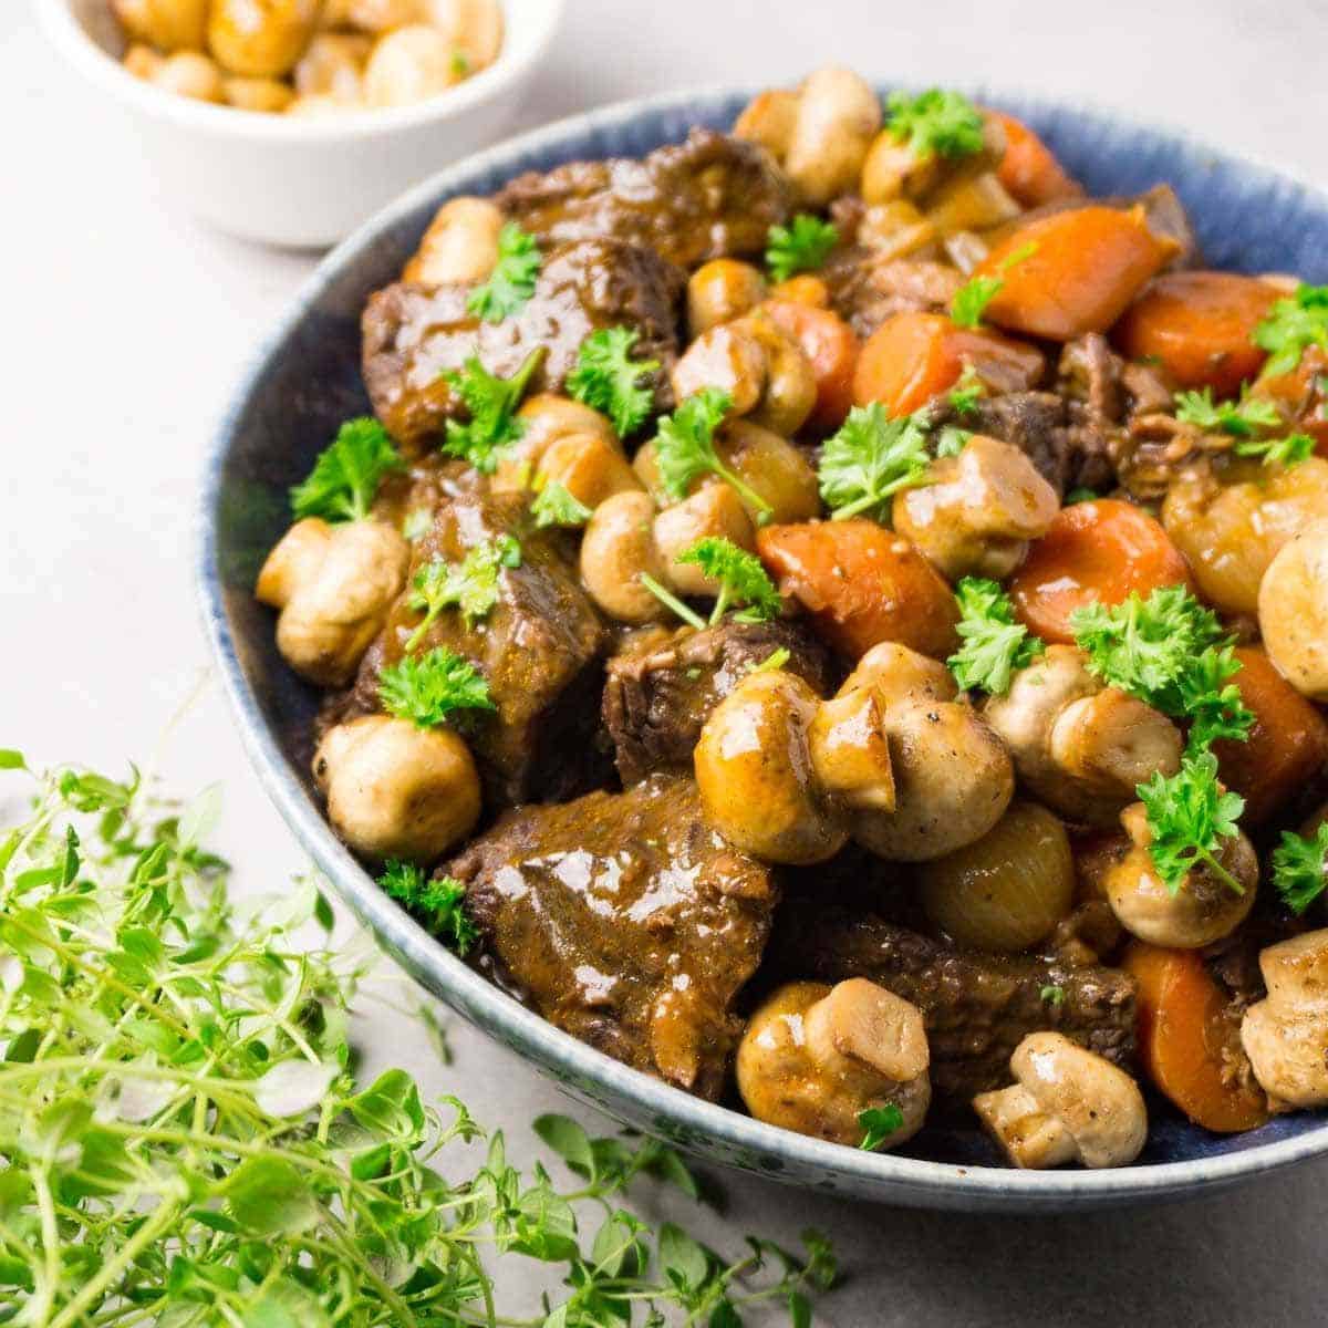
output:
<instances>
[{"instance_id":1,"label":"topmost beef chunk, at the bowl's back rim left of mushrooms","mask_svg":"<svg viewBox=\"0 0 1328 1328\"><path fill-rule=\"evenodd\" d=\"M555 244L612 236L683 267L765 251L793 187L762 147L709 129L641 161L571 162L514 179L494 202Z\"/></svg>"}]
</instances>

